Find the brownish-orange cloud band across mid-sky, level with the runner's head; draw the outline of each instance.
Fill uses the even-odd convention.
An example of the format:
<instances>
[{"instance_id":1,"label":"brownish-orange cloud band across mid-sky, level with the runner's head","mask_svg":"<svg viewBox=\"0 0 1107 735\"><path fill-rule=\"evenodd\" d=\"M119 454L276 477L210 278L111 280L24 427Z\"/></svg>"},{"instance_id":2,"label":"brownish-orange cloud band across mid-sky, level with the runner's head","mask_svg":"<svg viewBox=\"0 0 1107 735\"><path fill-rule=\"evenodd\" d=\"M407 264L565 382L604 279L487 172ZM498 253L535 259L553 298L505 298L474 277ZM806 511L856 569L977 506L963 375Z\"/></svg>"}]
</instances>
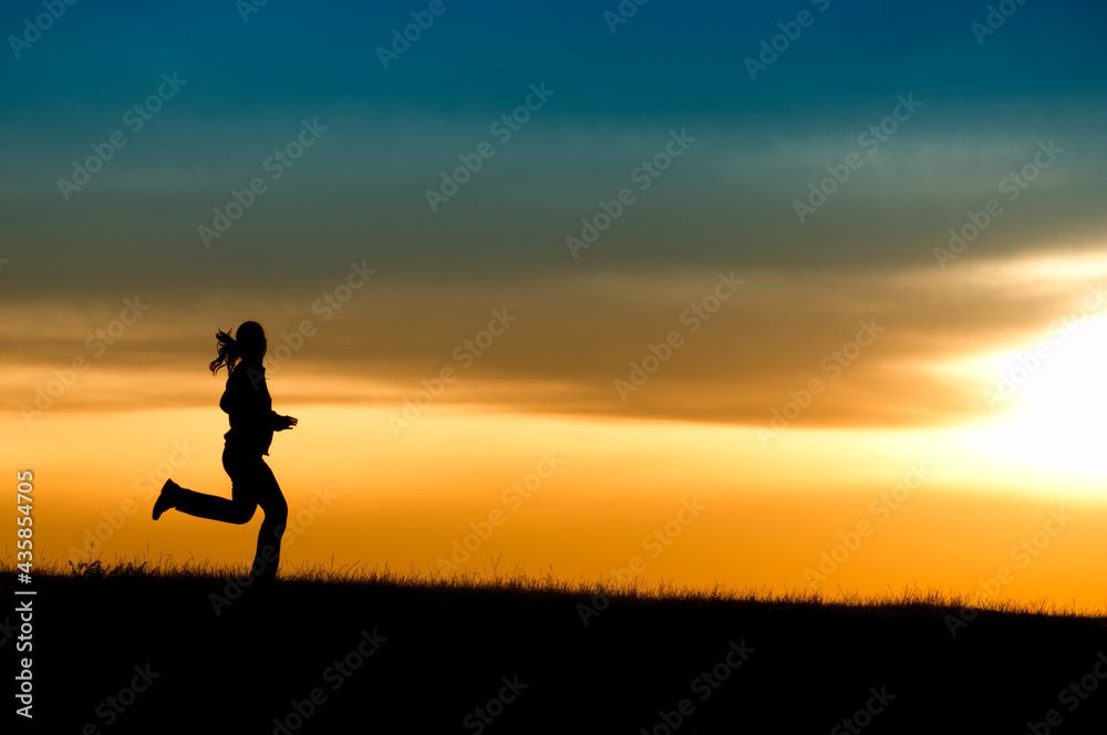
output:
<instances>
[{"instance_id":1,"label":"brownish-orange cloud band across mid-sky, level with the runner's head","mask_svg":"<svg viewBox=\"0 0 1107 735\"><path fill-rule=\"evenodd\" d=\"M6 308L0 342L22 359L4 397L12 407L33 397L55 368L85 354L89 377L59 406L208 405L218 392L207 373L216 328L258 319L269 334L271 390L286 403L402 406L451 369L456 377L435 405L764 425L790 391L820 379L825 391L804 413L807 426L959 423L986 413L989 376L949 366L1033 343L1107 275L1107 260L1074 252L977 259L946 271L735 270L744 283L712 302L720 272L731 269L465 284L382 273L330 311L311 293L163 294L100 358L89 355L85 339L114 304L42 304L22 318ZM514 319L509 327L495 327L496 312ZM849 355L859 322L879 337L862 337L869 344L852 359L836 358L844 348ZM673 332L680 344L666 349ZM654 366L651 354L665 359ZM620 391L617 381L634 384L635 363L653 370L637 390ZM92 387L96 381L104 382Z\"/></svg>"}]
</instances>

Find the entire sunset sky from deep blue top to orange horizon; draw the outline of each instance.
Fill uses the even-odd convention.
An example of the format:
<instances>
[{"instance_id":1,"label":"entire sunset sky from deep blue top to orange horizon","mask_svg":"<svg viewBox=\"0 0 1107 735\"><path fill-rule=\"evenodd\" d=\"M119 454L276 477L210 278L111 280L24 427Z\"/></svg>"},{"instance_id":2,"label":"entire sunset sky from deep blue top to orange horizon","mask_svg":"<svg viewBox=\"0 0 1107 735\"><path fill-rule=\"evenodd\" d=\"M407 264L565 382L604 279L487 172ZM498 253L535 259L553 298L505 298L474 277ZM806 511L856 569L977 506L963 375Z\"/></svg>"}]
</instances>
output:
<instances>
[{"instance_id":1,"label":"entire sunset sky from deep blue top to orange horizon","mask_svg":"<svg viewBox=\"0 0 1107 735\"><path fill-rule=\"evenodd\" d=\"M1000 4L4 3L38 552L252 557L256 320L288 569L1103 610L1107 8Z\"/></svg>"}]
</instances>

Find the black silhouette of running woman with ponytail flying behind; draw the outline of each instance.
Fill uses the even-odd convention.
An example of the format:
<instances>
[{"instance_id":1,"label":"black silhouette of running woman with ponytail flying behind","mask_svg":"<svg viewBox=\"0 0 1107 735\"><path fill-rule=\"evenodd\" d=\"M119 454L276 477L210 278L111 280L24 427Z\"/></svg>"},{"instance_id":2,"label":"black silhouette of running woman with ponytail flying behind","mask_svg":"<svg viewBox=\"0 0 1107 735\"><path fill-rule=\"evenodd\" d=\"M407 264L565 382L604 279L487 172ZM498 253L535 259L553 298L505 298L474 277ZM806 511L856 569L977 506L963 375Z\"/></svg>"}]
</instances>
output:
<instances>
[{"instance_id":1,"label":"black silhouette of running woman with ponytail flying behind","mask_svg":"<svg viewBox=\"0 0 1107 735\"><path fill-rule=\"evenodd\" d=\"M231 499L186 490L172 479L165 480L154 503L154 520L169 508L227 524L246 524L261 506L266 514L258 534L258 550L250 569L251 581L269 582L277 577L280 539L288 521L288 503L277 478L262 456L269 454L273 432L292 428L297 420L272 410L266 387L266 333L257 322L242 322L235 337L219 330L219 354L208 365L211 374L227 366L227 390L219 407L230 416L230 431L224 435L223 467L230 475Z\"/></svg>"}]
</instances>

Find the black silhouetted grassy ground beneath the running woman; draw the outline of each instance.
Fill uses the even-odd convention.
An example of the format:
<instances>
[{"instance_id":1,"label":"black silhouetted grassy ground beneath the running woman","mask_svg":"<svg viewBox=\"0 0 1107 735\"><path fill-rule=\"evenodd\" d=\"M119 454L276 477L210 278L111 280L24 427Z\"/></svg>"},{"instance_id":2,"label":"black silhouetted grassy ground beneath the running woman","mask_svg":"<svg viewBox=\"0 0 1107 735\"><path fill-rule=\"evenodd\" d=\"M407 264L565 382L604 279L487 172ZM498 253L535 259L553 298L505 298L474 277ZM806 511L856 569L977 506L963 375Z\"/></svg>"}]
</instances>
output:
<instances>
[{"instance_id":1,"label":"black silhouetted grassy ground beneath the running woman","mask_svg":"<svg viewBox=\"0 0 1107 735\"><path fill-rule=\"evenodd\" d=\"M586 627L586 593L380 582L216 615L224 587L37 577L31 732L1107 732L1103 618L620 597Z\"/></svg>"}]
</instances>

